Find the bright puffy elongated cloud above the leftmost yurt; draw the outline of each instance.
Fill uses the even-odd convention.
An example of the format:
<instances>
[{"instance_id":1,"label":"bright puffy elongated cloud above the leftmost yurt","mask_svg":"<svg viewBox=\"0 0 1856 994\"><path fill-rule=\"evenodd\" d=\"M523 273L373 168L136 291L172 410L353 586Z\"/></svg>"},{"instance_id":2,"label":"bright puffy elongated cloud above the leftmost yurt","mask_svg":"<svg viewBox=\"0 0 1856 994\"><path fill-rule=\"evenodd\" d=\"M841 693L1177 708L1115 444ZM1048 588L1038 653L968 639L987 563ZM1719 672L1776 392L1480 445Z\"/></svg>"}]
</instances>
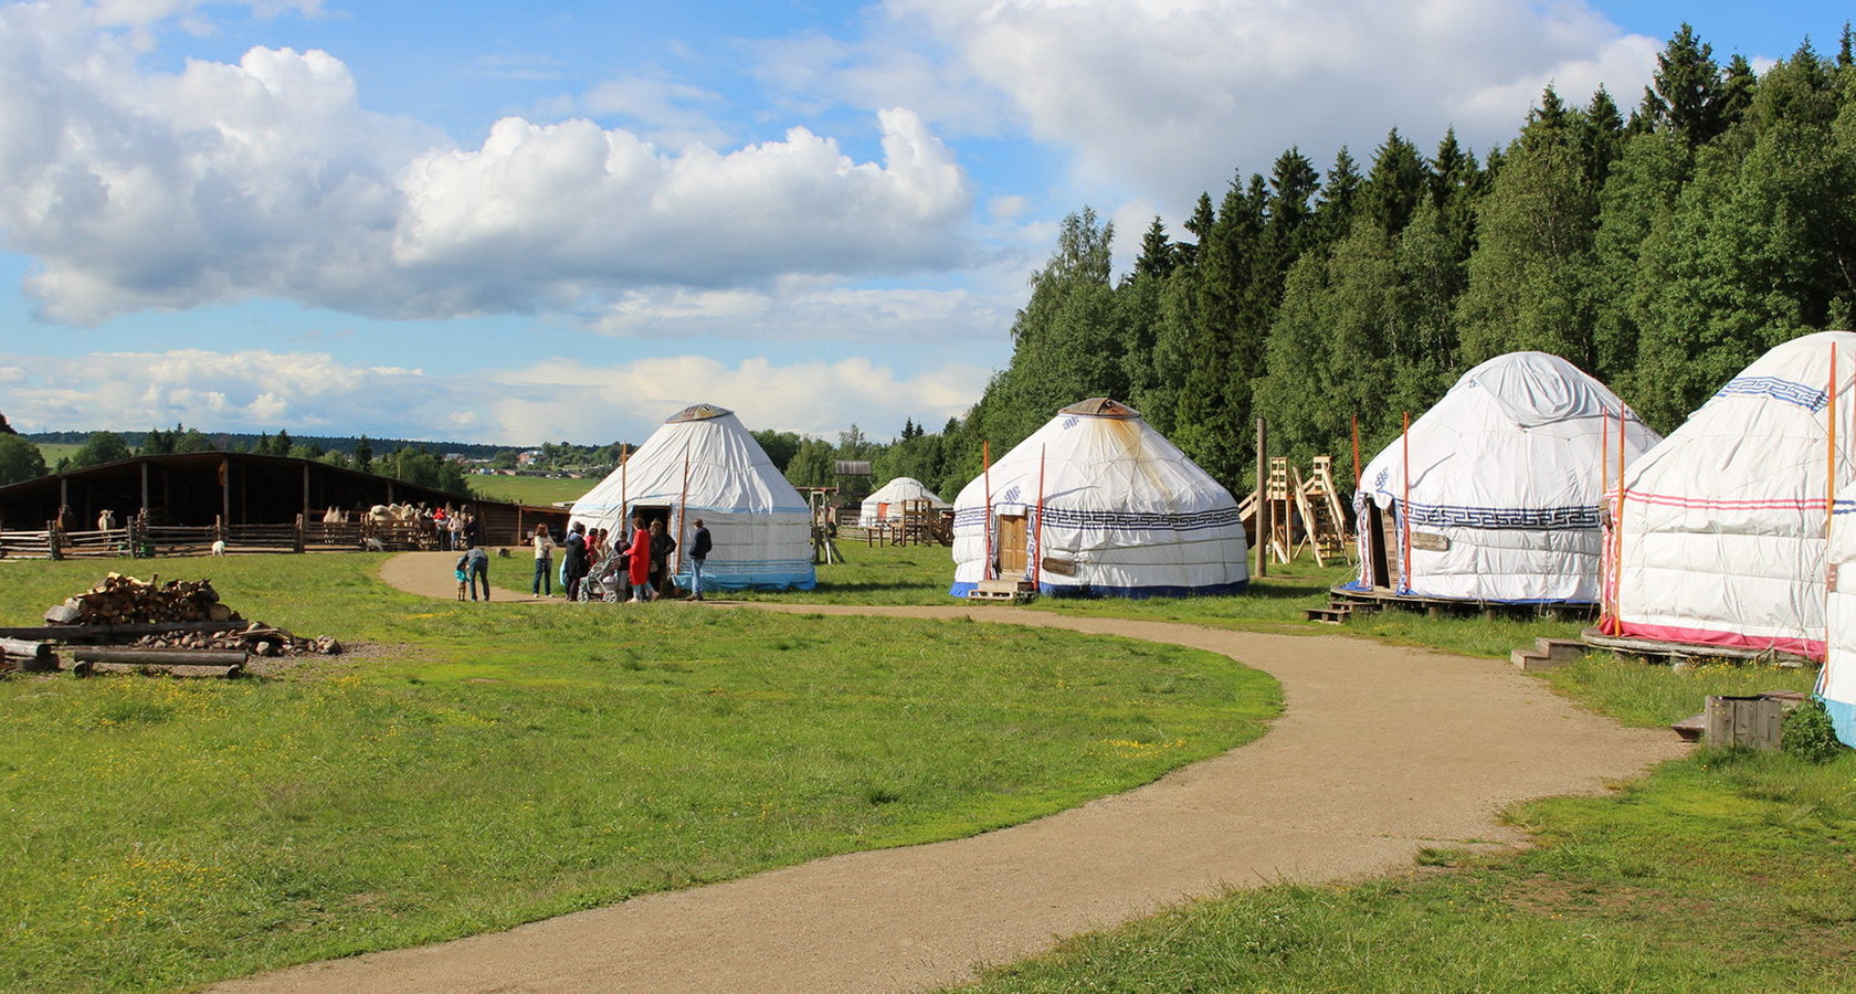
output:
<instances>
[{"instance_id":1,"label":"bright puffy elongated cloud above the leftmost yurt","mask_svg":"<svg viewBox=\"0 0 1856 994\"><path fill-rule=\"evenodd\" d=\"M965 174L909 111L882 111L883 165L806 128L735 152L664 156L588 121L503 119L477 150L403 174L393 261L468 271L477 295L733 286L785 273L878 274L958 261Z\"/></svg>"}]
</instances>

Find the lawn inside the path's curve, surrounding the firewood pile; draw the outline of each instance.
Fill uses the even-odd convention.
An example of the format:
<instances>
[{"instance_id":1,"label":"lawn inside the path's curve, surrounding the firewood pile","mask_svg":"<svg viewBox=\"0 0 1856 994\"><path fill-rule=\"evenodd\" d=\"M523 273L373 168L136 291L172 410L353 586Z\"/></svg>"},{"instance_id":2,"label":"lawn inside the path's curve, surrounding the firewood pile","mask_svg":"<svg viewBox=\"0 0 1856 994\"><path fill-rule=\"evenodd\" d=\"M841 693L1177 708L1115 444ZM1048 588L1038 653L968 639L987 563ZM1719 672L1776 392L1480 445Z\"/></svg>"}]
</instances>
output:
<instances>
[{"instance_id":1,"label":"lawn inside the path's curve, surrounding the firewood pile","mask_svg":"<svg viewBox=\"0 0 1856 994\"><path fill-rule=\"evenodd\" d=\"M1223 656L978 623L425 601L366 554L0 562L0 623L210 577L364 651L0 681L0 988L173 990L973 835L1255 738ZM512 573L512 571L505 571ZM1167 744L1166 749L1151 744Z\"/></svg>"}]
</instances>

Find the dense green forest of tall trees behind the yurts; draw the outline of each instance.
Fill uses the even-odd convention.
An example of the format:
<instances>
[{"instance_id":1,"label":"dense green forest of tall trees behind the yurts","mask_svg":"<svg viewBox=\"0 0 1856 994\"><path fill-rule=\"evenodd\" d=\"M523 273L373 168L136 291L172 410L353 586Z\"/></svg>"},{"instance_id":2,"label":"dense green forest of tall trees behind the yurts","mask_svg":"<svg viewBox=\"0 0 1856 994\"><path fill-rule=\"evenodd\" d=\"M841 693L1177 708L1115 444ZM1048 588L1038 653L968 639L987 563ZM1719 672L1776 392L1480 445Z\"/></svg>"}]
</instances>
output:
<instances>
[{"instance_id":1,"label":"dense green forest of tall trees behind the yurts","mask_svg":"<svg viewBox=\"0 0 1856 994\"><path fill-rule=\"evenodd\" d=\"M1240 174L1242 176L1242 174ZM1130 273L1114 226L1069 215L1012 323L1012 362L941 432L909 425L878 478L952 497L1065 404L1115 397L1212 477L1271 452L1351 464L1472 365L1539 349L1672 430L1761 352L1856 315L1856 69L1806 41L1756 74L1683 24L1624 115L1548 87L1483 159L1398 130L1368 163L1299 148L1154 219Z\"/></svg>"}]
</instances>

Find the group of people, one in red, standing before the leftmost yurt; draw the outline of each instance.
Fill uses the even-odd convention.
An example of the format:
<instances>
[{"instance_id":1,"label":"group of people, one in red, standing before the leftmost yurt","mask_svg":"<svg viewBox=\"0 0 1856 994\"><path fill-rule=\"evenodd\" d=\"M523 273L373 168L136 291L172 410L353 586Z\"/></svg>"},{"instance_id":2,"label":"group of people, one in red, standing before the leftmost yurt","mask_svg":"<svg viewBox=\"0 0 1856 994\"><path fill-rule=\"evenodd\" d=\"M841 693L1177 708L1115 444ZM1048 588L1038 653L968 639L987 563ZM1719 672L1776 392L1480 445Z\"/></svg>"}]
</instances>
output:
<instances>
[{"instance_id":1,"label":"group of people, one in red, standing before the leftmost yurt","mask_svg":"<svg viewBox=\"0 0 1856 994\"><path fill-rule=\"evenodd\" d=\"M694 527L687 553L692 575L690 599L702 601L703 562L709 558L713 542L702 517L694 519ZM616 542L609 543L605 529L588 532L585 523L575 521L562 543L555 543L546 525L536 525L531 545L535 547L533 592L536 595L553 595L553 551L564 547L561 582L568 601L583 599L586 584L616 584L618 577L624 577L631 588L631 597L625 599L638 603L655 601L668 590L670 553L676 553L677 540L670 538L661 517L650 523L644 517L633 517L629 540L620 534Z\"/></svg>"}]
</instances>

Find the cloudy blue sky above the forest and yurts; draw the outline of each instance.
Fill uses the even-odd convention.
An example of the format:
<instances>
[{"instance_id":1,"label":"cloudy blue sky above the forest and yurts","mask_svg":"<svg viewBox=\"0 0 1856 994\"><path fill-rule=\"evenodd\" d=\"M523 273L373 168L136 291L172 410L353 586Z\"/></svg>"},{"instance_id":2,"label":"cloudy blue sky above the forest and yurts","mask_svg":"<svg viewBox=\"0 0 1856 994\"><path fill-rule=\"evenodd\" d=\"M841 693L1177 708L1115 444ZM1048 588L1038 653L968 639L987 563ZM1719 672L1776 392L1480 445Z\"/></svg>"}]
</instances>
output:
<instances>
[{"instance_id":1,"label":"cloudy blue sky above the forest and yurts","mask_svg":"<svg viewBox=\"0 0 1856 994\"><path fill-rule=\"evenodd\" d=\"M0 0L0 414L536 445L937 430L1062 219L1630 109L1828 2Z\"/></svg>"}]
</instances>

